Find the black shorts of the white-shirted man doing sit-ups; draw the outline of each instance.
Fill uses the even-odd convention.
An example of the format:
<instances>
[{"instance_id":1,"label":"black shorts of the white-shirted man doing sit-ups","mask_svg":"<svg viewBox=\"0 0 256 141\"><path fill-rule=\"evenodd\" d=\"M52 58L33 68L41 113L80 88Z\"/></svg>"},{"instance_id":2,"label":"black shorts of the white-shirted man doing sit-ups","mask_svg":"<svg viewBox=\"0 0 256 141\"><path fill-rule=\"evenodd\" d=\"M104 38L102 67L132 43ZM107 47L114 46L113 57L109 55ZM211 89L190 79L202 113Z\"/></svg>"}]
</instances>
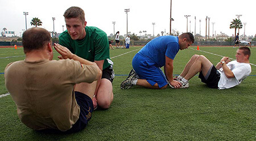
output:
<instances>
[{"instance_id":1,"label":"black shorts of the white-shirted man doing sit-ups","mask_svg":"<svg viewBox=\"0 0 256 141\"><path fill-rule=\"evenodd\" d=\"M208 87L218 88L218 81L220 80L220 73L217 71L215 66L213 66L212 70L210 70L210 75L208 76L207 80L205 80L202 71L200 71L198 77L201 79L201 82L207 84Z\"/></svg>"}]
</instances>

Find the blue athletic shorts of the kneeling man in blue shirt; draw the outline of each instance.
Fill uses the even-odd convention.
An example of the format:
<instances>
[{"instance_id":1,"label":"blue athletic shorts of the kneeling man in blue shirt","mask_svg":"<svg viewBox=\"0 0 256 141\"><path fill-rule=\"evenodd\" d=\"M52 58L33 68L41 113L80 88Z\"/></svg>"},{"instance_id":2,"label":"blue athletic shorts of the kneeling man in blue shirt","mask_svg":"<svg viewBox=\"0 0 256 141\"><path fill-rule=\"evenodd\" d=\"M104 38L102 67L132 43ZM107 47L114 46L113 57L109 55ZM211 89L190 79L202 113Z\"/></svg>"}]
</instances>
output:
<instances>
[{"instance_id":1,"label":"blue athletic shorts of the kneeling man in blue shirt","mask_svg":"<svg viewBox=\"0 0 256 141\"><path fill-rule=\"evenodd\" d=\"M141 54L136 54L132 64L139 78L146 79L151 86L154 86L155 83L158 83L159 88L167 85L166 76L163 74L163 71L159 67L156 67L151 59Z\"/></svg>"}]
</instances>

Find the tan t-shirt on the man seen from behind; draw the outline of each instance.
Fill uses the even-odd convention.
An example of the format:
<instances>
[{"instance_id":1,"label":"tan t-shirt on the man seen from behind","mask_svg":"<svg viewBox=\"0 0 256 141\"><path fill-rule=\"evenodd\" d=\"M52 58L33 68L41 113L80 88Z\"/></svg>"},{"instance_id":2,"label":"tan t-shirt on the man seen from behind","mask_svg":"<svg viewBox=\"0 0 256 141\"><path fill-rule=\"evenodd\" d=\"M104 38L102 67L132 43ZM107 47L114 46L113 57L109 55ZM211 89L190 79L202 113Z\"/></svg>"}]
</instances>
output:
<instances>
[{"instance_id":1,"label":"tan t-shirt on the man seen from behind","mask_svg":"<svg viewBox=\"0 0 256 141\"><path fill-rule=\"evenodd\" d=\"M34 130L71 129L80 114L73 86L92 83L96 66L70 59L17 61L5 69L5 85L17 106L18 116Z\"/></svg>"}]
</instances>

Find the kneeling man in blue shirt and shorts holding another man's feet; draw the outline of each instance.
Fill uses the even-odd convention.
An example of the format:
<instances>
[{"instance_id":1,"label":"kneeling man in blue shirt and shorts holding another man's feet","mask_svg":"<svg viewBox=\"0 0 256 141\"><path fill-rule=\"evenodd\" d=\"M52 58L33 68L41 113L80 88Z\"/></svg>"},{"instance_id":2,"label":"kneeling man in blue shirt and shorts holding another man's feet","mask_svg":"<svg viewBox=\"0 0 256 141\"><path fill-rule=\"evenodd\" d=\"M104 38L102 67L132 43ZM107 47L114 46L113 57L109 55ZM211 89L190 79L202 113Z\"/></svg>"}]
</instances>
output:
<instances>
[{"instance_id":1,"label":"kneeling man in blue shirt and shorts holding another man's feet","mask_svg":"<svg viewBox=\"0 0 256 141\"><path fill-rule=\"evenodd\" d=\"M187 49L195 41L191 33L180 36L160 36L148 42L133 58L133 70L121 83L121 89L138 85L163 89L167 84L180 88L180 82L173 79L173 63L177 52ZM164 74L160 67L164 66Z\"/></svg>"}]
</instances>

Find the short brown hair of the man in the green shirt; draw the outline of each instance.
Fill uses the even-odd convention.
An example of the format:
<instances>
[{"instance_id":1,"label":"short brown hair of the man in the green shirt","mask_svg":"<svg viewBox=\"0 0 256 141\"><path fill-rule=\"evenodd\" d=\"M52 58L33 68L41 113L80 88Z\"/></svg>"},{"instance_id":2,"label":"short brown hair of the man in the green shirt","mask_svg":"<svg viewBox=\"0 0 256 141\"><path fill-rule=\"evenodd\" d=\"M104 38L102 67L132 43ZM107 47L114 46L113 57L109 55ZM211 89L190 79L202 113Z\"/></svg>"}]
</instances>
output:
<instances>
[{"instance_id":1,"label":"short brown hair of the man in the green shirt","mask_svg":"<svg viewBox=\"0 0 256 141\"><path fill-rule=\"evenodd\" d=\"M69 7L63 15L65 18L69 19L69 18L79 18L81 20L81 22L85 22L85 14L84 14L84 10L82 10L82 8L77 7L77 6L72 6Z\"/></svg>"}]
</instances>

